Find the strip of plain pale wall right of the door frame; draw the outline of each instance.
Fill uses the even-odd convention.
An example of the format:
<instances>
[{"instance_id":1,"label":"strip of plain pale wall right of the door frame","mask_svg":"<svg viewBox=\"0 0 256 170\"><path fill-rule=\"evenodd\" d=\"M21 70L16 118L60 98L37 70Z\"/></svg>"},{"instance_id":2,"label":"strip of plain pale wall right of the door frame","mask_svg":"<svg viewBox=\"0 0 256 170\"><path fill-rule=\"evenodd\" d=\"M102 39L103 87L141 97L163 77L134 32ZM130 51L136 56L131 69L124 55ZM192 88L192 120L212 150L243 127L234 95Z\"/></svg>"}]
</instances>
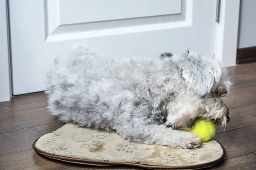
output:
<instances>
[{"instance_id":1,"label":"strip of plain pale wall right of the door frame","mask_svg":"<svg viewBox=\"0 0 256 170\"><path fill-rule=\"evenodd\" d=\"M256 0L241 0L238 48L256 46Z\"/></svg>"}]
</instances>

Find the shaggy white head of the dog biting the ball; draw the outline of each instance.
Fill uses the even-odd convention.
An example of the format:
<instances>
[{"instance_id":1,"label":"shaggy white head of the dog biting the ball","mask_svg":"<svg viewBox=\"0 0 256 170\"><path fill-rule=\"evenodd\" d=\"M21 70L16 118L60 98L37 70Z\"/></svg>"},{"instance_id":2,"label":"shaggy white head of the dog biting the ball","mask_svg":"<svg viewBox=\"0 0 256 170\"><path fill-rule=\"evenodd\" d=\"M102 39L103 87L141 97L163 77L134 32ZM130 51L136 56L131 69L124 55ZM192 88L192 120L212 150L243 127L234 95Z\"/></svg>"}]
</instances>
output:
<instances>
[{"instance_id":1,"label":"shaggy white head of the dog biting the ball","mask_svg":"<svg viewBox=\"0 0 256 170\"><path fill-rule=\"evenodd\" d=\"M220 97L230 92L227 69L215 57L201 57L192 51L167 57L179 71L180 89L175 101L167 105L166 125L185 130L192 127L196 118L205 117L225 127L230 119L229 111Z\"/></svg>"}]
</instances>

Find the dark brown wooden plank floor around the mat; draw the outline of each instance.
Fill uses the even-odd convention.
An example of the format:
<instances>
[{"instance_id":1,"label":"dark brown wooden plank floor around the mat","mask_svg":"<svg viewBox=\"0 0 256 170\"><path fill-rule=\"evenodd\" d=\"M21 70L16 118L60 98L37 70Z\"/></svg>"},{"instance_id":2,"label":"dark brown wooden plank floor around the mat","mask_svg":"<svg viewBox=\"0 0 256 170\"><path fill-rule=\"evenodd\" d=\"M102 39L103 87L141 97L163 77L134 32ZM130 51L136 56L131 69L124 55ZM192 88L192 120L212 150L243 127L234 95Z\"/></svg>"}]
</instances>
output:
<instances>
[{"instance_id":1,"label":"dark brown wooden plank floor around the mat","mask_svg":"<svg viewBox=\"0 0 256 170\"><path fill-rule=\"evenodd\" d=\"M226 148L227 156L225 161L210 169L256 170L256 63L230 67L229 73L235 84L224 101L230 108L231 120L224 133L218 129L215 135ZM35 153L32 142L63 125L49 115L46 105L44 93L0 102L0 170L100 168L54 161Z\"/></svg>"}]
</instances>

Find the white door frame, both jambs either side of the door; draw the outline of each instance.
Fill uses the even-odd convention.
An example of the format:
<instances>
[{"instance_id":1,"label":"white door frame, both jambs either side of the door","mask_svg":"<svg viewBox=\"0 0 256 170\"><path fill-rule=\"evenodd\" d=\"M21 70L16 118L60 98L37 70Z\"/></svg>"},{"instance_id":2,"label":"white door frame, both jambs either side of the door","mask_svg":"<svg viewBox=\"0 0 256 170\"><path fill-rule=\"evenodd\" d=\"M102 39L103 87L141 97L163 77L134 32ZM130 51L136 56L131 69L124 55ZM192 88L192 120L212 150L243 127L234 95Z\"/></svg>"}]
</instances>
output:
<instances>
[{"instance_id":1,"label":"white door frame, both jambs either side of the door","mask_svg":"<svg viewBox=\"0 0 256 170\"><path fill-rule=\"evenodd\" d=\"M216 4L217 4L217 0ZM0 1L0 102L12 97L8 29L8 0ZM236 65L240 0L220 0L220 20L215 23L215 56L227 66ZM1 35L3 34L3 35Z\"/></svg>"}]
</instances>

